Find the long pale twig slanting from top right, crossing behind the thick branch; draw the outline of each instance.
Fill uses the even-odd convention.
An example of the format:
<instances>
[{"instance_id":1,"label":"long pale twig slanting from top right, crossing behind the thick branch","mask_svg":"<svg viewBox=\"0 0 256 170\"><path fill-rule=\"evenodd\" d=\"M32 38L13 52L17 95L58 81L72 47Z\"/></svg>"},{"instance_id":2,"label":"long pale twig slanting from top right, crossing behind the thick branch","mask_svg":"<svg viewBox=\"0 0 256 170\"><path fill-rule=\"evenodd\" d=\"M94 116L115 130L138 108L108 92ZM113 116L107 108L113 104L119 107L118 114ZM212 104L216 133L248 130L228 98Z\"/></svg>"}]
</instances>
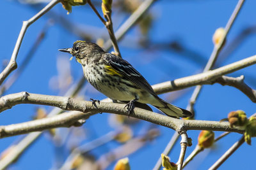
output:
<instances>
[{"instance_id":1,"label":"long pale twig slanting from top right, crossing behind the thick branch","mask_svg":"<svg viewBox=\"0 0 256 170\"><path fill-rule=\"evenodd\" d=\"M239 13L239 11L241 10L241 8L243 6L243 3L244 3L244 0L239 0L238 1L235 10L233 11L231 17L228 20L228 23L225 27L225 33L223 34L223 37L221 38L220 43L218 45L214 46L214 49L211 53L211 57L208 60L206 66L204 68L204 72L209 71L214 66L214 64L217 60L217 57L218 57L222 47L224 46L224 42L225 42L225 39L228 35L228 32L230 31L230 28L234 24L234 21L236 20L238 13ZM202 89L202 85L196 86L196 88L195 88L195 90L194 90L194 92L193 92L193 94L192 94L192 96L189 100L189 104L187 106L188 110L194 111L193 107L194 107L194 104L196 102L196 99L197 99L198 95L200 94L201 89Z\"/></svg>"}]
</instances>

